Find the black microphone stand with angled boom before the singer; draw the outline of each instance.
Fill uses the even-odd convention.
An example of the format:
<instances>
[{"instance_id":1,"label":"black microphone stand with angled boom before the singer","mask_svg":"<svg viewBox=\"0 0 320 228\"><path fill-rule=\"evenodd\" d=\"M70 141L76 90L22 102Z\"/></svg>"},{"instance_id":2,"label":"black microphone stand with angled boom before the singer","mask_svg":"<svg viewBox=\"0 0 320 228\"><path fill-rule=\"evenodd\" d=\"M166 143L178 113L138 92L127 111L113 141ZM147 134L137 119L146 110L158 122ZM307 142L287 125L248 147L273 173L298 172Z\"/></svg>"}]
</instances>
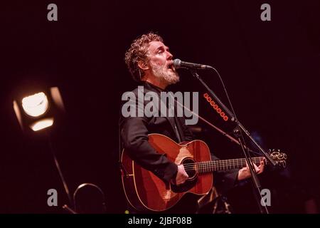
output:
<instances>
[{"instance_id":1,"label":"black microphone stand with angled boom before the singer","mask_svg":"<svg viewBox=\"0 0 320 228\"><path fill-rule=\"evenodd\" d=\"M212 68L212 67L211 67ZM213 68L213 70L215 70L215 68ZM252 179L252 183L255 187L255 199L257 200L257 204L258 207L260 209L261 214L269 214L269 211L267 209L267 205L262 205L262 198L261 198L261 185L260 185L260 180L257 177L257 173L255 172L255 168L253 165L253 162L251 160L250 157L250 153L247 150L247 146L245 145L245 140L243 138L242 135L242 131L247 135L248 138L250 138L250 140L259 148L259 150L262 152L263 155L265 155L265 157L267 158L267 160L272 164L272 165L276 165L276 163L272 160L272 158L270 157L270 155L265 152L265 150L262 149L262 147L255 141L255 139L253 139L250 135L250 133L245 129L245 127L238 121L238 118L235 115L235 112L233 110L233 113L230 112L230 110L222 103L222 101L218 98L217 95L215 95L215 93L213 93L213 90L211 90L208 85L202 80L202 78L200 78L200 76L198 75L198 73L196 72L195 69L193 68L189 68L189 71L192 73L192 75L198 79L198 81L200 81L200 83L206 88L206 90L208 90L208 93L210 93L210 95L213 97L213 99L215 100L216 103L218 103L221 107L221 109L223 109L225 111L225 113L227 113L230 116L230 120L235 122L235 130L233 131L235 137L238 139L238 142L241 145L242 148L242 152L245 155L245 160L247 161L247 165L250 168L250 172L251 172L251 179ZM216 70L215 70L216 71ZM216 71L217 72L217 71ZM218 73L218 72L217 72ZM219 75L219 73L218 73ZM226 91L225 91L226 92ZM228 93L227 93L228 96ZM230 102L230 100L229 100ZM260 200L259 200L260 199ZM264 208L262 208L262 206L264 206ZM264 210L265 209L265 210Z\"/></svg>"}]
</instances>

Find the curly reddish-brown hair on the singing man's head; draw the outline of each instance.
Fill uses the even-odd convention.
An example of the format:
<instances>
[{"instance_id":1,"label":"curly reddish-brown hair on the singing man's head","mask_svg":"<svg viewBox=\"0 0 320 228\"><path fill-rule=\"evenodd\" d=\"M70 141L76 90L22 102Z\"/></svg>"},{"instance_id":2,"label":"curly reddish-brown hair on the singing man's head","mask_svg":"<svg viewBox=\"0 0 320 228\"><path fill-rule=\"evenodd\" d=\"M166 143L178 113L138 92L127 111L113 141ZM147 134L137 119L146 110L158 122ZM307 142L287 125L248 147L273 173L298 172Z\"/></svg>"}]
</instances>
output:
<instances>
[{"instance_id":1,"label":"curly reddish-brown hair on the singing man's head","mask_svg":"<svg viewBox=\"0 0 320 228\"><path fill-rule=\"evenodd\" d=\"M147 61L147 53L149 48L149 43L151 41L160 41L164 42L163 38L158 34L149 32L138 38L136 38L129 50L125 53L124 61L127 64L129 72L132 75L134 81L141 81L141 78L144 76L144 71L140 71L138 62Z\"/></svg>"}]
</instances>

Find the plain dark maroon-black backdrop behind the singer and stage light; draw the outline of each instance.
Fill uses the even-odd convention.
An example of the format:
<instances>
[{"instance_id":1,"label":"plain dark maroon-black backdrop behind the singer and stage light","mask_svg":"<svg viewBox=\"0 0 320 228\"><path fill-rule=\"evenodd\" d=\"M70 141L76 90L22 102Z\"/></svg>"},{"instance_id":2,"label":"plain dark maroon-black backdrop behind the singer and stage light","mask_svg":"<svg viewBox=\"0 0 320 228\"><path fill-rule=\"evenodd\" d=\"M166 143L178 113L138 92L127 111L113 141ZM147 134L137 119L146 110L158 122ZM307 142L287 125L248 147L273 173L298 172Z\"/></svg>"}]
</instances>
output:
<instances>
[{"instance_id":1,"label":"plain dark maroon-black backdrop behind the singer and stage light","mask_svg":"<svg viewBox=\"0 0 320 228\"><path fill-rule=\"evenodd\" d=\"M47 6L58 6L58 21ZM260 6L271 6L261 21ZM12 100L29 86L58 86L66 117L53 147L73 193L91 182L105 192L110 213L126 202L118 169L119 101L136 84L124 64L131 41L158 32L174 58L218 69L238 118L267 148L287 152L284 171L265 172L272 212L307 212L319 205L319 1L2 1L0 68L0 212L63 213L68 199L41 134L24 135ZM213 72L199 72L225 95ZM172 90L204 91L188 71ZM217 120L201 103L200 114ZM221 158L238 147L206 128L198 135ZM258 212L249 185L229 192L235 212ZM58 207L47 191L58 190Z\"/></svg>"}]
</instances>

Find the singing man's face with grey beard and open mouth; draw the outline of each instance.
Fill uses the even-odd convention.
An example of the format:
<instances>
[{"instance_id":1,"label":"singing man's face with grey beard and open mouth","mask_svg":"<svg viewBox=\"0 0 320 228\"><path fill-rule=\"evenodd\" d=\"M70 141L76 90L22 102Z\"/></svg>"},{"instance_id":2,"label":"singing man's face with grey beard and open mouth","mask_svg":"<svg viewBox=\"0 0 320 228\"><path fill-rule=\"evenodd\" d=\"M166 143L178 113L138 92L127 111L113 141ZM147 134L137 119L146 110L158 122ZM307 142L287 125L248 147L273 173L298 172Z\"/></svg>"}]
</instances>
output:
<instances>
[{"instance_id":1,"label":"singing man's face with grey beard and open mouth","mask_svg":"<svg viewBox=\"0 0 320 228\"><path fill-rule=\"evenodd\" d=\"M179 81L178 73L174 68L169 48L160 41L151 41L148 48L149 68L151 72L171 85Z\"/></svg>"}]
</instances>

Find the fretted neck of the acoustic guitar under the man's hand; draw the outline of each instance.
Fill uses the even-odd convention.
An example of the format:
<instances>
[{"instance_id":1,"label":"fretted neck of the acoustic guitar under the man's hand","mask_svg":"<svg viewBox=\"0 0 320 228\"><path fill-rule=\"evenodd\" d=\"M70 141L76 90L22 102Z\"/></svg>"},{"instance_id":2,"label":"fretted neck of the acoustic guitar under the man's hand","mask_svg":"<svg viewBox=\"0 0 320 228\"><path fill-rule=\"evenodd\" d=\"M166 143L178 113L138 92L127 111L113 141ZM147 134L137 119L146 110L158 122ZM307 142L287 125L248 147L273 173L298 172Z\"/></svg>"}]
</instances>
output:
<instances>
[{"instance_id":1,"label":"fretted neck of the acoustic guitar under the man's hand","mask_svg":"<svg viewBox=\"0 0 320 228\"><path fill-rule=\"evenodd\" d=\"M252 161L255 162L255 165L260 165L260 160L262 158L263 157L252 157ZM197 162L195 165L196 170L198 170L198 173L206 173L214 171L241 169L242 167L245 167L246 160L245 158L213 160L206 162Z\"/></svg>"}]
</instances>

